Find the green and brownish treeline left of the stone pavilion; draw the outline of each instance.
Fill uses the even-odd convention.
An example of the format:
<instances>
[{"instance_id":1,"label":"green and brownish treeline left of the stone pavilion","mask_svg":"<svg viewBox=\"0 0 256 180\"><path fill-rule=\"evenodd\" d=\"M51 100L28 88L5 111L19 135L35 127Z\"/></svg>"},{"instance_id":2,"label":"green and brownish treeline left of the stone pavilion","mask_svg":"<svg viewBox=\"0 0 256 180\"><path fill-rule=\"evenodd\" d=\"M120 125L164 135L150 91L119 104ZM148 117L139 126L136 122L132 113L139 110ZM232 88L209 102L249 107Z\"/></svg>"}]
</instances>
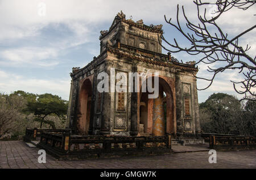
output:
<instances>
[{"instance_id":1,"label":"green and brownish treeline left of the stone pavilion","mask_svg":"<svg viewBox=\"0 0 256 180\"><path fill-rule=\"evenodd\" d=\"M20 139L26 127L64 128L68 101L45 93L0 93L0 139Z\"/></svg>"}]
</instances>

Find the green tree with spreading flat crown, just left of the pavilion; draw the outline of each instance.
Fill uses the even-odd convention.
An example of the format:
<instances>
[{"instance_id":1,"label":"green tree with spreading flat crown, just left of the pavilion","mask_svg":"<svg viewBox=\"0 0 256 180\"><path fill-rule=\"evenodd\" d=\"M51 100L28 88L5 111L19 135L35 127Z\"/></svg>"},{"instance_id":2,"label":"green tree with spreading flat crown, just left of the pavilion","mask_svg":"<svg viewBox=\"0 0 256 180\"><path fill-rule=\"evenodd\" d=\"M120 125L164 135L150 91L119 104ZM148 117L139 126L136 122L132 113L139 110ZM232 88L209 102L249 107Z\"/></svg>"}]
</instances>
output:
<instances>
[{"instance_id":1,"label":"green tree with spreading flat crown, just left of the pavilion","mask_svg":"<svg viewBox=\"0 0 256 180\"><path fill-rule=\"evenodd\" d=\"M34 114L34 121L40 122L40 128L42 128L43 123L46 123L54 129L55 123L46 117L57 115L64 122L67 109L68 101L57 95L45 93L38 95L35 101L28 101L26 112Z\"/></svg>"}]
</instances>

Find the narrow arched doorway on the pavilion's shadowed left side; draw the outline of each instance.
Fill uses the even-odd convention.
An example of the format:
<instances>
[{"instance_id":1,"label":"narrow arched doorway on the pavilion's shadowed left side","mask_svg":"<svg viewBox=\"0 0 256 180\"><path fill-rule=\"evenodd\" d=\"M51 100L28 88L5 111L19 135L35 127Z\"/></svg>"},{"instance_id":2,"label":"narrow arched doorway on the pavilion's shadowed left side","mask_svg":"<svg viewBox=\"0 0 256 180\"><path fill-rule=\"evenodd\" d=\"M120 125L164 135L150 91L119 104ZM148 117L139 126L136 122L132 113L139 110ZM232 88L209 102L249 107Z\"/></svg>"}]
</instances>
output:
<instances>
[{"instance_id":1,"label":"narrow arched doorway on the pavilion's shadowed left side","mask_svg":"<svg viewBox=\"0 0 256 180\"><path fill-rule=\"evenodd\" d=\"M90 108L92 105L92 83L85 79L81 85L79 94L78 131L80 134L88 134L90 125Z\"/></svg>"}]
</instances>

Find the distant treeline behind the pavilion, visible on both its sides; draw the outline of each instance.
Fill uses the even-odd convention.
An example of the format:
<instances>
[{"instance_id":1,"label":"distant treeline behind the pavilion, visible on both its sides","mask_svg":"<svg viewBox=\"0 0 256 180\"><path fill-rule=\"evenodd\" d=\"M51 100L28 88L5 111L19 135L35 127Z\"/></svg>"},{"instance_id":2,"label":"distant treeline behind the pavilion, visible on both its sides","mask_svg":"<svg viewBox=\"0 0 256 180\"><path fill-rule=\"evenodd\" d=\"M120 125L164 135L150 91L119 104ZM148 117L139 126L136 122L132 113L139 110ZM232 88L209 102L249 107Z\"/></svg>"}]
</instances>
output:
<instances>
[{"instance_id":1,"label":"distant treeline behind the pavilion, visible on both its sides","mask_svg":"<svg viewBox=\"0 0 256 180\"><path fill-rule=\"evenodd\" d=\"M256 102L213 93L199 105L203 132L256 136ZM26 127L65 128L68 101L45 93L0 93L0 139L21 139Z\"/></svg>"}]
</instances>

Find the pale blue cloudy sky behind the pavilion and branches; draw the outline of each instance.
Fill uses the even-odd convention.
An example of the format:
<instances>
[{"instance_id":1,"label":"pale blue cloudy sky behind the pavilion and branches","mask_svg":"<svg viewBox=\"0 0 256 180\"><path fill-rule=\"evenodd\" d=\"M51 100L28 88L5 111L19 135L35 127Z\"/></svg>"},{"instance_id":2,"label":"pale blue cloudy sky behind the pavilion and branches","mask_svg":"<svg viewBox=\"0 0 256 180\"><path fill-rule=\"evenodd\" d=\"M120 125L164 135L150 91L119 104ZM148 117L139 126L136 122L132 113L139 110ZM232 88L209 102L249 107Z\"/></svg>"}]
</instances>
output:
<instances>
[{"instance_id":1,"label":"pale blue cloudy sky behind the pavilion and branches","mask_svg":"<svg viewBox=\"0 0 256 180\"><path fill-rule=\"evenodd\" d=\"M192 1L0 0L0 92L52 93L68 100L72 67L84 67L100 53L100 31L109 29L121 10L126 18L132 16L134 21L143 19L147 25L163 24L168 40L173 42L173 38L177 38L187 45L188 42L164 22L164 15L175 21L177 3L184 5L188 18L196 22ZM44 5L46 14L42 11ZM214 7L208 9L213 11ZM218 24L229 37L234 37L254 24L255 10L255 7L247 11L235 8L226 12ZM251 31L240 40L241 45L251 45L249 53L253 56L255 35L256 31ZM183 62L199 58L186 53L172 55ZM207 66L199 67L198 75L209 78ZM238 79L241 76L233 71L218 75L210 88L199 91L199 102L213 92L237 95L230 80ZM198 87L204 88L207 83L198 80Z\"/></svg>"}]
</instances>

